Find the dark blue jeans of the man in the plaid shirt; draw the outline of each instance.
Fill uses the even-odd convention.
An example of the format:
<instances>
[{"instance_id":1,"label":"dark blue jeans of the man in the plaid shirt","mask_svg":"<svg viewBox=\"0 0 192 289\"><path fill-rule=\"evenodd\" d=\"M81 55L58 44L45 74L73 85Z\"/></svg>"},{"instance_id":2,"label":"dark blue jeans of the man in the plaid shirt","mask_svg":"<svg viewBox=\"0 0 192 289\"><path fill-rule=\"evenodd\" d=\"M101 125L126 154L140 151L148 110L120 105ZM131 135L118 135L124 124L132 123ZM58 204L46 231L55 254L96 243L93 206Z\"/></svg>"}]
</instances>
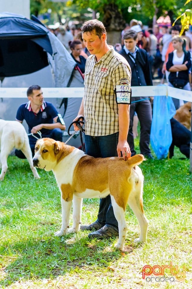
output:
<instances>
[{"instance_id":1,"label":"dark blue jeans of the man in the plaid shirt","mask_svg":"<svg viewBox=\"0 0 192 289\"><path fill-rule=\"evenodd\" d=\"M85 135L85 151L92 157L117 157L117 144L119 132L112 135L90 136ZM103 227L110 225L116 231L118 230L118 222L113 213L111 197L100 199L99 213L97 222Z\"/></svg>"}]
</instances>

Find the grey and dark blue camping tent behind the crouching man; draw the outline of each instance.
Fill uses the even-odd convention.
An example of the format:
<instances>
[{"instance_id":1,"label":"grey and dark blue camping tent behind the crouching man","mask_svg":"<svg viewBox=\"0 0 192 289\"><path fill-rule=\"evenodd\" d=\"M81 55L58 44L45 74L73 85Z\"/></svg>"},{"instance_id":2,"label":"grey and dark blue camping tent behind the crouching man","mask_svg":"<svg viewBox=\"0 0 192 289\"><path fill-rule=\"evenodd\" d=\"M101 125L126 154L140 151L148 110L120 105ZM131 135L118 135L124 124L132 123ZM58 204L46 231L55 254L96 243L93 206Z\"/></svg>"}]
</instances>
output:
<instances>
[{"instance_id":1,"label":"grey and dark blue camping tent behind the crouching man","mask_svg":"<svg viewBox=\"0 0 192 289\"><path fill-rule=\"evenodd\" d=\"M0 14L1 87L26 88L32 84L41 87L82 87L84 81L75 67L76 62L64 45L35 16L29 20L22 15ZM59 108L62 99L46 99L44 96L46 101ZM17 108L26 101L23 98L1 99L0 118L15 120ZM67 127L76 116L80 102L80 98L68 100L67 119L64 118ZM73 141L70 144L75 145Z\"/></svg>"}]
</instances>

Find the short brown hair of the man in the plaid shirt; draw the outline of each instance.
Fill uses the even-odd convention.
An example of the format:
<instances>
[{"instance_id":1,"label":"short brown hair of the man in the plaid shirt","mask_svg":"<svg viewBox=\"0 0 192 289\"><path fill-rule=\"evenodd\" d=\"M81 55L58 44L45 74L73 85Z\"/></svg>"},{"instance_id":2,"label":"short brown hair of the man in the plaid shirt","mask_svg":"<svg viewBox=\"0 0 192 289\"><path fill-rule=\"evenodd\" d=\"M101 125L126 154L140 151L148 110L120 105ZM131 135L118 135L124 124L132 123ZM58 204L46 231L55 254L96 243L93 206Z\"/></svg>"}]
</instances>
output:
<instances>
[{"instance_id":1,"label":"short brown hair of the man in the plaid shirt","mask_svg":"<svg viewBox=\"0 0 192 289\"><path fill-rule=\"evenodd\" d=\"M107 35L105 26L101 21L97 19L85 21L81 27L81 31L82 33L94 33L99 36L99 39L101 39L103 33Z\"/></svg>"}]
</instances>

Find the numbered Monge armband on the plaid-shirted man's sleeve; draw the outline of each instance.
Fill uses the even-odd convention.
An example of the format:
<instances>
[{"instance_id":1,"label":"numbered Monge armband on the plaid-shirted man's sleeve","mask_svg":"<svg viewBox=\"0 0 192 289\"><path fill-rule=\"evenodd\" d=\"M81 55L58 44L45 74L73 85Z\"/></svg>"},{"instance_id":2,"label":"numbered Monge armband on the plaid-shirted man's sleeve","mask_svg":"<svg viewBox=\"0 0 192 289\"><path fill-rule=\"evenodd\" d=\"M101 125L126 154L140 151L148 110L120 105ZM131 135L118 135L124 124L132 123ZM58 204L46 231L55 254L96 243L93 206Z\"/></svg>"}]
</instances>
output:
<instances>
[{"instance_id":1,"label":"numbered Monge armband on the plaid-shirted man's sleeve","mask_svg":"<svg viewBox=\"0 0 192 289\"><path fill-rule=\"evenodd\" d=\"M131 104L130 85L116 85L115 95L117 104Z\"/></svg>"}]
</instances>

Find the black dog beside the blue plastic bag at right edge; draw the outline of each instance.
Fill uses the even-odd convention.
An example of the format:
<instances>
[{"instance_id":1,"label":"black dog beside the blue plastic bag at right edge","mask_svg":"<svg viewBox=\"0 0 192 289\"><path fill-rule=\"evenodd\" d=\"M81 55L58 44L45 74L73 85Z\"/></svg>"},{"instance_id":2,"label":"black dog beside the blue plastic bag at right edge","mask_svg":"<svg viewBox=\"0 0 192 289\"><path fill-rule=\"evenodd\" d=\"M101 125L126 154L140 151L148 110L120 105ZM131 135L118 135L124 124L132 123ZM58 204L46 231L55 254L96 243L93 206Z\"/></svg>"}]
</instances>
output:
<instances>
[{"instance_id":1,"label":"black dog beside the blue plastic bag at right edge","mask_svg":"<svg viewBox=\"0 0 192 289\"><path fill-rule=\"evenodd\" d=\"M175 120L173 117L170 119L171 132L172 132L172 144L169 148L170 158L174 156L174 147L178 147L180 152L184 154L187 158L190 155L190 137L191 132L186 129L179 121Z\"/></svg>"}]
</instances>

